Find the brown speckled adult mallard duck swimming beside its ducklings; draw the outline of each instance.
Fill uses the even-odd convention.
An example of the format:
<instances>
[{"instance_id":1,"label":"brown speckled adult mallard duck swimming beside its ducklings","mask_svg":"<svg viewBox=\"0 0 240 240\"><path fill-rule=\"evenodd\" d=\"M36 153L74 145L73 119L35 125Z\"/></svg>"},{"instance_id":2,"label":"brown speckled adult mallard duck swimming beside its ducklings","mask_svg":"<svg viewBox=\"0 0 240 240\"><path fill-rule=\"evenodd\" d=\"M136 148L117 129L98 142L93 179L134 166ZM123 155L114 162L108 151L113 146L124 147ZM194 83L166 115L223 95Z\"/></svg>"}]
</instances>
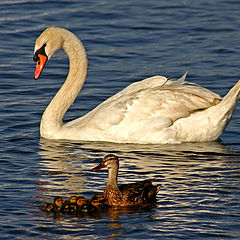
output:
<instances>
[{"instance_id":1,"label":"brown speckled adult mallard duck swimming beside its ducklings","mask_svg":"<svg viewBox=\"0 0 240 240\"><path fill-rule=\"evenodd\" d=\"M106 199L105 204L124 207L150 204L156 201L160 185L153 186L151 179L118 186L119 160L117 156L107 155L92 171L98 171L104 167L108 168L108 182L103 193Z\"/></svg>"}]
</instances>

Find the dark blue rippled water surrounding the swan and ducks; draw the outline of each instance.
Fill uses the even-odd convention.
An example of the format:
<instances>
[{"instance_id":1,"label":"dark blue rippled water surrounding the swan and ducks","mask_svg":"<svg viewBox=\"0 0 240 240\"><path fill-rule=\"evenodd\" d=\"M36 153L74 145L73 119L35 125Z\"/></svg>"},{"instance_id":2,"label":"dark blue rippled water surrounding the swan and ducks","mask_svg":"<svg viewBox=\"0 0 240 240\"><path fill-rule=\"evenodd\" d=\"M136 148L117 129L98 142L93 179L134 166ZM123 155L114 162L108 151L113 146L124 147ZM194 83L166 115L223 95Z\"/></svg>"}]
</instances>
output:
<instances>
[{"instance_id":1,"label":"dark blue rippled water surrounding the swan and ducks","mask_svg":"<svg viewBox=\"0 0 240 240\"><path fill-rule=\"evenodd\" d=\"M128 84L156 74L224 95L239 78L238 1L0 2L1 239L239 239L239 106L220 142L129 145L39 137L43 110L63 83L58 52L33 80L35 39L47 26L73 31L89 58L86 84L65 120L85 114ZM149 210L54 217L54 196L103 191L107 172L90 169L108 153L121 158L119 181L161 184Z\"/></svg>"}]
</instances>

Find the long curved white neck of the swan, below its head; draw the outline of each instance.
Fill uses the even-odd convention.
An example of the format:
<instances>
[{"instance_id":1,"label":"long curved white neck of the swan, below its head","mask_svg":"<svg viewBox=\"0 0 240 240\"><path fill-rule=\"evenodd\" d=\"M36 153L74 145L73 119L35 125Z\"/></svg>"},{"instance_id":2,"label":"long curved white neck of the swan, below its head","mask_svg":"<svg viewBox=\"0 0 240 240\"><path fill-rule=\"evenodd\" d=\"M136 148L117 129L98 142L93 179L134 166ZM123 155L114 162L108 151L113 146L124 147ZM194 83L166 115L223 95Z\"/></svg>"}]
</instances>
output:
<instances>
[{"instance_id":1,"label":"long curved white neck of the swan, below its head","mask_svg":"<svg viewBox=\"0 0 240 240\"><path fill-rule=\"evenodd\" d=\"M66 32L63 39L62 49L69 57L69 73L43 113L40 132L46 138L52 138L61 129L62 119L80 92L87 75L87 55L81 41L70 32Z\"/></svg>"}]
</instances>

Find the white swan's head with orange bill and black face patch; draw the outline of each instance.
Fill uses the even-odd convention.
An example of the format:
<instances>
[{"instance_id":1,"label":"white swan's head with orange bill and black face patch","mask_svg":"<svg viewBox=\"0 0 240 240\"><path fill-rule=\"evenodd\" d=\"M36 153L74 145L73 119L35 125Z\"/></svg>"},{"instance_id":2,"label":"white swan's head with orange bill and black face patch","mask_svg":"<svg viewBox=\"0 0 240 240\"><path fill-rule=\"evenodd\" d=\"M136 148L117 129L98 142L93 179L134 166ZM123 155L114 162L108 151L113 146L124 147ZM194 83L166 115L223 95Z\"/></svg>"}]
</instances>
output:
<instances>
[{"instance_id":1,"label":"white swan's head with orange bill and black face patch","mask_svg":"<svg viewBox=\"0 0 240 240\"><path fill-rule=\"evenodd\" d=\"M47 60L63 46L64 33L67 30L49 27L42 32L35 43L33 60L37 63L34 78L38 79Z\"/></svg>"}]
</instances>

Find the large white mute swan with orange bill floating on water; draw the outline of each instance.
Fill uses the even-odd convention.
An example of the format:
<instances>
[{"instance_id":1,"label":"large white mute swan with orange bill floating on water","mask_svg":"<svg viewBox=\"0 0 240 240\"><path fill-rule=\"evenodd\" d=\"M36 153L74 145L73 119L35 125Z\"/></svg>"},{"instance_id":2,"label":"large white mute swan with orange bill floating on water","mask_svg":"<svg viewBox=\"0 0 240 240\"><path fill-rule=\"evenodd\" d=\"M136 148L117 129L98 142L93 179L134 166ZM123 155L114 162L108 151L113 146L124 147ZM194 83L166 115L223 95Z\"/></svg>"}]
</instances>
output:
<instances>
[{"instance_id":1,"label":"large white mute swan with orange bill floating on water","mask_svg":"<svg viewBox=\"0 0 240 240\"><path fill-rule=\"evenodd\" d=\"M87 74L87 55L70 31L50 27L36 40L34 78L63 49L69 57L65 83L43 113L40 134L48 139L118 143L181 143L220 138L239 100L240 81L221 98L198 85L154 76L130 84L85 116L63 124Z\"/></svg>"}]
</instances>

